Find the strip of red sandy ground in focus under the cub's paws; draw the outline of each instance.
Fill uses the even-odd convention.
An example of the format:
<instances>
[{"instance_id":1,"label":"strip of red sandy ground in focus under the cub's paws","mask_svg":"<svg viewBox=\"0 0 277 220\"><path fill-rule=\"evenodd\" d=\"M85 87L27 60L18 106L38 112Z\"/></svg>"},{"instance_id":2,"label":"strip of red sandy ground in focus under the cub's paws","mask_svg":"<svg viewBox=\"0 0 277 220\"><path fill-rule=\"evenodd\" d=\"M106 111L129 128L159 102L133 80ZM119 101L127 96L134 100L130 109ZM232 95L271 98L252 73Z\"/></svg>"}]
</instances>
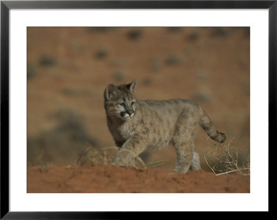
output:
<instances>
[{"instance_id":1,"label":"strip of red sandy ground in focus under the cub's paws","mask_svg":"<svg viewBox=\"0 0 277 220\"><path fill-rule=\"evenodd\" d=\"M28 192L250 192L250 178L122 166L28 167Z\"/></svg>"}]
</instances>

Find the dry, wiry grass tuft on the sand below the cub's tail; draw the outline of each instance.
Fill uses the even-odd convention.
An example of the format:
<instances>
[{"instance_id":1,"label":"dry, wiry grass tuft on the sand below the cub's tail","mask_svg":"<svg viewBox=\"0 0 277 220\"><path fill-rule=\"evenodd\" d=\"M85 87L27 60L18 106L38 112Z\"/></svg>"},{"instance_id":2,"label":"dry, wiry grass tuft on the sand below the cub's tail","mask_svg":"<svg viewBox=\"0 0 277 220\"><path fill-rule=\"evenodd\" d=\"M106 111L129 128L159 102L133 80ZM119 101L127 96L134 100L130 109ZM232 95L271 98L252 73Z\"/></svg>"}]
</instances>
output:
<instances>
[{"instance_id":1,"label":"dry, wiry grass tuft on the sand below the cub's tail","mask_svg":"<svg viewBox=\"0 0 277 220\"><path fill-rule=\"evenodd\" d=\"M204 154L204 159L216 176L233 172L250 175L250 154L232 146L233 139L224 143L211 143L207 137L207 141L209 150Z\"/></svg>"}]
</instances>

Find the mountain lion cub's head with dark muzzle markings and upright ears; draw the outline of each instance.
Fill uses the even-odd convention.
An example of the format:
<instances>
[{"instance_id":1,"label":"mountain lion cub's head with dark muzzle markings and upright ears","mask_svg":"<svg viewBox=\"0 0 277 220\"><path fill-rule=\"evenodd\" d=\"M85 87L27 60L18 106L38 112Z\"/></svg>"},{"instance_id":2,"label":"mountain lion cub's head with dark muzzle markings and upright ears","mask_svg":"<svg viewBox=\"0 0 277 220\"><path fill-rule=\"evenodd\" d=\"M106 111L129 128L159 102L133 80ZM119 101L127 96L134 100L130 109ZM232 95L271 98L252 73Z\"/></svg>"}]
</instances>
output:
<instances>
[{"instance_id":1,"label":"mountain lion cub's head with dark muzzle markings and upright ears","mask_svg":"<svg viewBox=\"0 0 277 220\"><path fill-rule=\"evenodd\" d=\"M113 83L109 83L104 92L104 105L107 115L125 121L133 117L136 110L135 88L135 79L127 85L115 86Z\"/></svg>"}]
</instances>

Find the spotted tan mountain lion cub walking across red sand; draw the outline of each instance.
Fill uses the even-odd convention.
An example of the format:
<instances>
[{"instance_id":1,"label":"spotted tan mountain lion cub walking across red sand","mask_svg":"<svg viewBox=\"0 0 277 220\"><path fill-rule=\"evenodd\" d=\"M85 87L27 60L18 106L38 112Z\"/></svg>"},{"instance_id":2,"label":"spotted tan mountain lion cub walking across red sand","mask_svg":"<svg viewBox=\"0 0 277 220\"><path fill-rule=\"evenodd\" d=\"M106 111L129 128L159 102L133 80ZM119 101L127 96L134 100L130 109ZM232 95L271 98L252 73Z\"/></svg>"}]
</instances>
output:
<instances>
[{"instance_id":1,"label":"spotted tan mountain lion cub walking across red sand","mask_svg":"<svg viewBox=\"0 0 277 220\"><path fill-rule=\"evenodd\" d=\"M199 170L194 139L201 126L211 139L224 142L226 136L195 102L184 99L137 100L136 80L127 85L110 83L104 92L107 125L120 150L111 164L127 166L147 148L161 149L172 143L177 152L177 172Z\"/></svg>"}]
</instances>

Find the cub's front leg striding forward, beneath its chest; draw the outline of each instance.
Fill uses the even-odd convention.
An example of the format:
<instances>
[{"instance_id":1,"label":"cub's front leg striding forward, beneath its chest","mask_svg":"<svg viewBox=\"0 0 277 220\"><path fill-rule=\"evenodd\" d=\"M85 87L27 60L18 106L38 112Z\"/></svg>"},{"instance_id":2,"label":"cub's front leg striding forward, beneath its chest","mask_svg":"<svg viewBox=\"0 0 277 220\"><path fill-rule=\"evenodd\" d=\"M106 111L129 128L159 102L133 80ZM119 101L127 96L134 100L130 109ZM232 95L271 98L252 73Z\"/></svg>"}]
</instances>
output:
<instances>
[{"instance_id":1,"label":"cub's front leg striding forward, beneath its chest","mask_svg":"<svg viewBox=\"0 0 277 220\"><path fill-rule=\"evenodd\" d=\"M132 159L138 156L143 150L145 150L148 146L147 138L134 135L127 139L125 143L123 143L122 148L118 151L113 161L112 165L121 165L128 166L132 165Z\"/></svg>"}]
</instances>

